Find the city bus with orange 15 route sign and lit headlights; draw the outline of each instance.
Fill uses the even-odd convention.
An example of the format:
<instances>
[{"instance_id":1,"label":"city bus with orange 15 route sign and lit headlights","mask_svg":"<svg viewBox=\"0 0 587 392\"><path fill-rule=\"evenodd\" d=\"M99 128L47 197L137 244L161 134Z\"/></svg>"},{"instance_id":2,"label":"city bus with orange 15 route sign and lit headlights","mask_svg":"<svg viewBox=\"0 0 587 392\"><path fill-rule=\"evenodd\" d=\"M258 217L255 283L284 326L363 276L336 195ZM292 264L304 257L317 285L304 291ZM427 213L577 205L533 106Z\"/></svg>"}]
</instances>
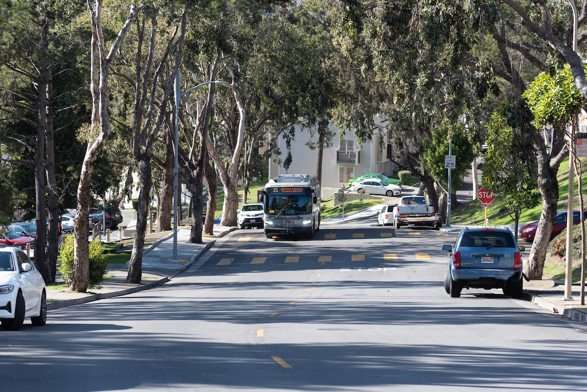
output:
<instances>
[{"instance_id":1,"label":"city bus with orange 15 route sign and lit headlights","mask_svg":"<svg viewBox=\"0 0 587 392\"><path fill-rule=\"evenodd\" d=\"M296 234L312 237L320 228L320 183L315 175L271 178L260 198L267 238Z\"/></svg>"}]
</instances>

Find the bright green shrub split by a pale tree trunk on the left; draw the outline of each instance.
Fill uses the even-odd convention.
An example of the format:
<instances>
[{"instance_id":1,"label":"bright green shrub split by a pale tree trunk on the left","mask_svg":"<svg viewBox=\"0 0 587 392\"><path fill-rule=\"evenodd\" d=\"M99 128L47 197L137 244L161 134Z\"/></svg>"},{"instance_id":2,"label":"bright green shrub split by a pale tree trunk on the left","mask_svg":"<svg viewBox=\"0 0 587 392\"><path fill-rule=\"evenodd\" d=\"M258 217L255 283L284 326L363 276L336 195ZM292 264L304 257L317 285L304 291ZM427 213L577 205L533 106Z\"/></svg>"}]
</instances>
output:
<instances>
[{"instance_id":1,"label":"bright green shrub split by a pale tree trunk on the left","mask_svg":"<svg viewBox=\"0 0 587 392\"><path fill-rule=\"evenodd\" d=\"M61 265L59 266L59 272L69 286L73 279L73 235L65 236L65 240L61 245L60 255ZM108 272L106 270L108 256L104 254L104 246L97 238L90 242L89 258L90 279L87 286L88 288L99 289L102 287L100 282L104 280L104 275Z\"/></svg>"}]
</instances>

